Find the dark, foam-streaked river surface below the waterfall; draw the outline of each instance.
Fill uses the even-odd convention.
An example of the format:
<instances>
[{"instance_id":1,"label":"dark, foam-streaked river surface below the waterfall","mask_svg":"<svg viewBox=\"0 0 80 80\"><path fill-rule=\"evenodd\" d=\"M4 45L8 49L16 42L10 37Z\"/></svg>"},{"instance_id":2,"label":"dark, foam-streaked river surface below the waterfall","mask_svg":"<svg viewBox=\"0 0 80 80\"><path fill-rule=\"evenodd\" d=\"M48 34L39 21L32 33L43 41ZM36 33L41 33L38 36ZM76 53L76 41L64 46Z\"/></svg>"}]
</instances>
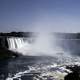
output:
<instances>
[{"instance_id":1,"label":"dark, foam-streaked river surface below the waterfall","mask_svg":"<svg viewBox=\"0 0 80 80\"><path fill-rule=\"evenodd\" d=\"M0 62L0 80L64 80L66 65L79 64L78 58L57 55L27 56Z\"/></svg>"}]
</instances>

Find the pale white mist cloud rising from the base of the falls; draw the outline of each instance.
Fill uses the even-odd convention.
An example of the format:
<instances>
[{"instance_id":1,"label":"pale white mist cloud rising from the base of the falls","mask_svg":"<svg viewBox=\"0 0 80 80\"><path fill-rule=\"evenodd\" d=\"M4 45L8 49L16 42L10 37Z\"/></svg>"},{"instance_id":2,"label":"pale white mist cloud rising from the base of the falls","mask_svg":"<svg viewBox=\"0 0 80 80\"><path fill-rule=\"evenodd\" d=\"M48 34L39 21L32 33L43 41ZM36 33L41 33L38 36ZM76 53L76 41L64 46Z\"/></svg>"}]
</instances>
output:
<instances>
[{"instance_id":1,"label":"pale white mist cloud rising from the base of the falls","mask_svg":"<svg viewBox=\"0 0 80 80\"><path fill-rule=\"evenodd\" d=\"M55 53L62 52L59 46L56 46L56 39L52 39L52 36L48 33L39 33L35 43L33 44L33 52L38 55L52 56Z\"/></svg>"}]
</instances>

